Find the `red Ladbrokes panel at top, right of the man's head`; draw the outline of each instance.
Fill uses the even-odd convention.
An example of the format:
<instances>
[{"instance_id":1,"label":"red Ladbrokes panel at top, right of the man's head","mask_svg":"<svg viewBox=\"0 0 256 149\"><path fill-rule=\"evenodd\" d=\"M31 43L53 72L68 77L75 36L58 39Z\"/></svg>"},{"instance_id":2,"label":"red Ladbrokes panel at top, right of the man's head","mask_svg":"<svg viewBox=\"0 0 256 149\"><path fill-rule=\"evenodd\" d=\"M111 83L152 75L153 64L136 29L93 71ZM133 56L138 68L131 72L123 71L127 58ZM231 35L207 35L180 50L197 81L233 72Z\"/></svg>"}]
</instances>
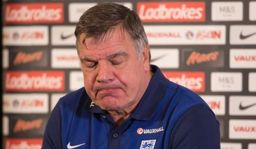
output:
<instances>
[{"instance_id":1,"label":"red Ladbrokes panel at top, right of the man's head","mask_svg":"<svg viewBox=\"0 0 256 149\"><path fill-rule=\"evenodd\" d=\"M142 22L203 22L204 2L139 2Z\"/></svg>"}]
</instances>

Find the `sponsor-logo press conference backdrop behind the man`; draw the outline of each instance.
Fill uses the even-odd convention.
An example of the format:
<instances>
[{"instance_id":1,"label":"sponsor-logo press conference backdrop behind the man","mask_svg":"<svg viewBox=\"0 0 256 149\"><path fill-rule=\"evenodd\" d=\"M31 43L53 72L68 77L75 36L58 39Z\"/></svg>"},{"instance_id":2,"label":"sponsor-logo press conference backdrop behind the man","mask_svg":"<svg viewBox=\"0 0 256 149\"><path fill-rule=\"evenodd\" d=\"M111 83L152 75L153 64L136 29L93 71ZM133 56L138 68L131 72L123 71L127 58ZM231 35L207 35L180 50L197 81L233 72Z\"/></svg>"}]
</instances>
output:
<instances>
[{"instance_id":1,"label":"sponsor-logo press conference backdrop behind the man","mask_svg":"<svg viewBox=\"0 0 256 149\"><path fill-rule=\"evenodd\" d=\"M40 149L58 99L83 87L74 29L101 2L2 1L5 149ZM152 64L212 108L221 149L256 149L256 1L119 3L140 16Z\"/></svg>"}]
</instances>

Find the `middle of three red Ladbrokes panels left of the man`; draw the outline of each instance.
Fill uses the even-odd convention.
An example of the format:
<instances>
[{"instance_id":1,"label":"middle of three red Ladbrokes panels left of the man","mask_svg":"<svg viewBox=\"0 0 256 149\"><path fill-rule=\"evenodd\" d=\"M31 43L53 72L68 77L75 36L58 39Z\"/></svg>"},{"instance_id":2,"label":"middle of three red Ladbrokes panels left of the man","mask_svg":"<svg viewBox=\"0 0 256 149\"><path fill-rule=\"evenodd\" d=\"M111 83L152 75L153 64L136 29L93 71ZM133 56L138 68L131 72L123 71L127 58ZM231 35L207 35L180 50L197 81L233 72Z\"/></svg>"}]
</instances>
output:
<instances>
[{"instance_id":1,"label":"middle of three red Ladbrokes panels left of the man","mask_svg":"<svg viewBox=\"0 0 256 149\"><path fill-rule=\"evenodd\" d=\"M64 91L64 72L62 71L7 71L6 91Z\"/></svg>"}]
</instances>

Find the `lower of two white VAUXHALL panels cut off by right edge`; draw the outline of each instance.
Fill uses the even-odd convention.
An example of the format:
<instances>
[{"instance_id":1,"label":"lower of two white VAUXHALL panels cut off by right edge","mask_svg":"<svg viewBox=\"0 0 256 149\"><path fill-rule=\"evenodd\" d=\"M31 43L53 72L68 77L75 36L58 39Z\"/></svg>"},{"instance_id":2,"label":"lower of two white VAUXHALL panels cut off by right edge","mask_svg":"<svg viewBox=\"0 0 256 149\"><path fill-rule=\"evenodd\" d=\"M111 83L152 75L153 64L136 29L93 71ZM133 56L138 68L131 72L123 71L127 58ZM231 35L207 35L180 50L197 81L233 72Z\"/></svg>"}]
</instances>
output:
<instances>
[{"instance_id":1,"label":"lower of two white VAUXHALL panels cut off by right edge","mask_svg":"<svg viewBox=\"0 0 256 149\"><path fill-rule=\"evenodd\" d=\"M230 139L256 139L256 120L230 120Z\"/></svg>"}]
</instances>

